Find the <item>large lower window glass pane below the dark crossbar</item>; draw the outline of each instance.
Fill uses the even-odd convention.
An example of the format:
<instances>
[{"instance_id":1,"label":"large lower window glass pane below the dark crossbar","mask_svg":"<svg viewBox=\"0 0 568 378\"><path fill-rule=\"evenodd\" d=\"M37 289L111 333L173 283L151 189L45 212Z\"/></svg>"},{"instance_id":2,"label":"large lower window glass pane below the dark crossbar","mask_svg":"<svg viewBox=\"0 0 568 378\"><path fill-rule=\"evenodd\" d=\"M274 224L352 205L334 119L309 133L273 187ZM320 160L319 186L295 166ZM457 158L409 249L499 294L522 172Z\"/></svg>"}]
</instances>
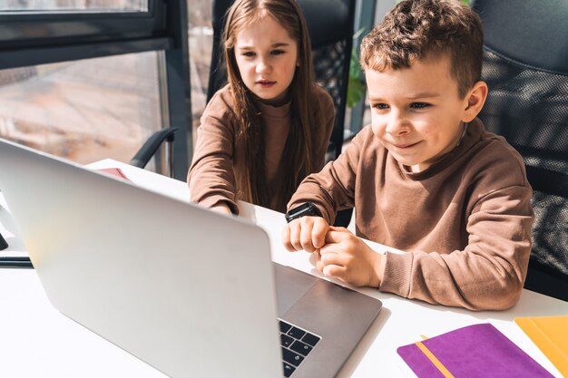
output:
<instances>
[{"instance_id":1,"label":"large lower window glass pane below the dark crossbar","mask_svg":"<svg viewBox=\"0 0 568 378\"><path fill-rule=\"evenodd\" d=\"M128 162L162 127L161 54L0 71L0 137L80 163Z\"/></svg>"}]
</instances>

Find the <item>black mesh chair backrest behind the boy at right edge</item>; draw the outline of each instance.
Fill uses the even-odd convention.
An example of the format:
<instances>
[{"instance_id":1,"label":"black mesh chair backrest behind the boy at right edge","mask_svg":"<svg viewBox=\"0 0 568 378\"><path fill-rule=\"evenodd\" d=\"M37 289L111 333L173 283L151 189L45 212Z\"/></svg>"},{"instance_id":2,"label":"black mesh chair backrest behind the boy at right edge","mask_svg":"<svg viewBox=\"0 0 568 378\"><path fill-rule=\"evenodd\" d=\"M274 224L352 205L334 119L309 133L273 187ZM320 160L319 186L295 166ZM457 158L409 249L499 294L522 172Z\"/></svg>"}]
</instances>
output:
<instances>
[{"instance_id":1,"label":"black mesh chair backrest behind the boy at right edge","mask_svg":"<svg viewBox=\"0 0 568 378\"><path fill-rule=\"evenodd\" d=\"M568 2L475 0L485 32L480 118L524 157L534 189L525 287L568 300Z\"/></svg>"}]
</instances>

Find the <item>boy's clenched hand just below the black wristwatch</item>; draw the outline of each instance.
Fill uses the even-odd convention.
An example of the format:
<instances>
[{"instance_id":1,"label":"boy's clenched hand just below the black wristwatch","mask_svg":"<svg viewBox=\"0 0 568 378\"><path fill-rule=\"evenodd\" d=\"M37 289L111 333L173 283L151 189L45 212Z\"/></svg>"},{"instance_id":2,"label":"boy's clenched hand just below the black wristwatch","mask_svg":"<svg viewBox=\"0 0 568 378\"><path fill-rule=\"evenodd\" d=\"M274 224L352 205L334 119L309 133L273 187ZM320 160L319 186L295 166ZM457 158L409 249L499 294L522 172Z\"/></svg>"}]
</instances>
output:
<instances>
[{"instance_id":1,"label":"boy's clenched hand just below the black wristwatch","mask_svg":"<svg viewBox=\"0 0 568 378\"><path fill-rule=\"evenodd\" d=\"M282 243L290 252L314 252L326 243L329 225L321 217L294 219L282 230Z\"/></svg>"}]
</instances>

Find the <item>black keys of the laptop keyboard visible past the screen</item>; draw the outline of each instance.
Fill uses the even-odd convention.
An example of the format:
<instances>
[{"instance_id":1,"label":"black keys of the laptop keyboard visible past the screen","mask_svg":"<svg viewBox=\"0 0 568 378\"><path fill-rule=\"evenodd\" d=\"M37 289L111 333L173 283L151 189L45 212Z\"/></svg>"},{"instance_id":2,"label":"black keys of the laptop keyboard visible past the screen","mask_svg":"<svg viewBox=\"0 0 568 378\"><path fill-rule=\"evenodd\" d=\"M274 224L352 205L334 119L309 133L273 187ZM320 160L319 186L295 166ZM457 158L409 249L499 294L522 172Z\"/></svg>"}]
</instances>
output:
<instances>
[{"instance_id":1,"label":"black keys of the laptop keyboard visible past the screen","mask_svg":"<svg viewBox=\"0 0 568 378\"><path fill-rule=\"evenodd\" d=\"M284 359L284 376L294 373L299 364L311 352L321 339L316 334L310 334L295 325L290 325L279 319L280 344L282 345L282 358Z\"/></svg>"}]
</instances>

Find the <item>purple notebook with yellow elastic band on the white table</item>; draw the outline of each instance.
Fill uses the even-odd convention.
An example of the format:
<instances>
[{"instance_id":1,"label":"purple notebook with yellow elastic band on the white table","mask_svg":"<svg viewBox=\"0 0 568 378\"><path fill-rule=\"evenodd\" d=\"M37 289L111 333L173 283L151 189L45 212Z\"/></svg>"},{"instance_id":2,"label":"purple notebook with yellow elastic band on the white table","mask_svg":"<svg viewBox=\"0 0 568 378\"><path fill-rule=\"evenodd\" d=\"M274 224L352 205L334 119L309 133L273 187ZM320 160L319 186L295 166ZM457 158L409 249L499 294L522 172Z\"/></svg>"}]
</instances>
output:
<instances>
[{"instance_id":1,"label":"purple notebook with yellow elastic band on the white table","mask_svg":"<svg viewBox=\"0 0 568 378\"><path fill-rule=\"evenodd\" d=\"M419 378L553 378L490 324L469 325L420 343L397 349Z\"/></svg>"}]
</instances>

